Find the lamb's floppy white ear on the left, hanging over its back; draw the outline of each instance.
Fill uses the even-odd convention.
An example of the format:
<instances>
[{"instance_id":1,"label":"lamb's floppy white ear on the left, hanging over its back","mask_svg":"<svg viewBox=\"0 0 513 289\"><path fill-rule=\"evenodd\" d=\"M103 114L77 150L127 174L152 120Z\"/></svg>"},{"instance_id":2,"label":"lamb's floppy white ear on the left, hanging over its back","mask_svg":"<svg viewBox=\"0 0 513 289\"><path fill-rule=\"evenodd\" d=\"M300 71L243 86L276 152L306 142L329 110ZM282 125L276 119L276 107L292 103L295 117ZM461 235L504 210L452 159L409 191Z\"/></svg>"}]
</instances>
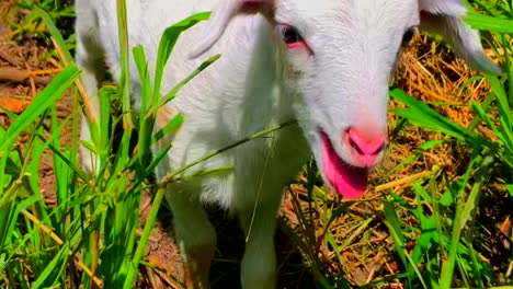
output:
<instances>
[{"instance_id":1,"label":"lamb's floppy white ear on the left, hanging over its back","mask_svg":"<svg viewBox=\"0 0 513 289\"><path fill-rule=\"evenodd\" d=\"M220 0L218 2L212 12L205 35L190 54L191 58L202 55L216 44L230 20L236 15L262 13L269 18L274 9L274 0Z\"/></svg>"}]
</instances>

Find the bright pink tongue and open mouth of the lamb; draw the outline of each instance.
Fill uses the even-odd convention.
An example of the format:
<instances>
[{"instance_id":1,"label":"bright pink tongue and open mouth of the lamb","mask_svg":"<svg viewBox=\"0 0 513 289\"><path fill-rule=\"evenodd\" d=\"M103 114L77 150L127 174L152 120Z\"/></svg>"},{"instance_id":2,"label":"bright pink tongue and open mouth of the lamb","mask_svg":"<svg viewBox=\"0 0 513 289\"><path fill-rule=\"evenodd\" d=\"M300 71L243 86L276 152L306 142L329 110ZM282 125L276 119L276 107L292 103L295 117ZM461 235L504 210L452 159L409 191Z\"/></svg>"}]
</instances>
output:
<instances>
[{"instance_id":1,"label":"bright pink tongue and open mouth of the lamb","mask_svg":"<svg viewBox=\"0 0 513 289\"><path fill-rule=\"evenodd\" d=\"M344 198L361 198L367 186L368 169L351 166L342 161L333 151L330 140L324 134L322 134L321 150L324 175L331 185Z\"/></svg>"}]
</instances>

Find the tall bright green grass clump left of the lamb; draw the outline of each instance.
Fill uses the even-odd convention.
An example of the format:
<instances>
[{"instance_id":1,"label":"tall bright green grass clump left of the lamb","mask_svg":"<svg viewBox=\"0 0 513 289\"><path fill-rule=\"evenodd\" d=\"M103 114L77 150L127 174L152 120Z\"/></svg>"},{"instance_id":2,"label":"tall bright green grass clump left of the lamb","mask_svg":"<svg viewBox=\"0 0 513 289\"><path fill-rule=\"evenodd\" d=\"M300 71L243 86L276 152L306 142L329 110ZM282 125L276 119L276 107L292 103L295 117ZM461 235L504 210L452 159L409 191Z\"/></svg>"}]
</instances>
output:
<instances>
[{"instance_id":1,"label":"tall bright green grass clump left of the lamb","mask_svg":"<svg viewBox=\"0 0 513 289\"><path fill-rule=\"evenodd\" d=\"M23 114L11 114L15 122L8 130L0 131L3 152L0 163L0 285L7 288L133 288L166 186L164 183L155 186L158 189L152 210L142 232L138 232L141 192L152 186L147 178L171 146L169 143L168 149L150 162L150 144L175 132L183 119L179 115L167 127L155 131L157 111L218 56L203 63L170 93L160 91L163 67L180 34L208 19L209 14L193 15L164 32L152 82L144 48L136 47L129 51L125 1L117 1L123 72L118 85L100 90L98 118L82 92L79 69L52 18L32 3L25 2L25 5L49 28L66 69ZM142 84L142 107L138 117L133 115L129 101L128 59L132 54ZM65 122L59 124L55 107L56 101L66 91L82 92L81 103L89 117L92 142L81 144L99 157L98 175L88 174L79 167L77 136L71 146L60 143ZM112 102L115 100L122 103L118 118L111 117ZM78 109L79 106L76 106L75 116L79 115ZM50 136L42 128L42 123L48 117L53 119ZM113 148L114 128L118 122L123 124L123 131L118 148ZM22 150L13 150L23 131L33 135L31 141ZM132 148L130 139L136 135L138 146ZM38 155L47 148L54 150L55 155L55 208L46 206L37 174Z\"/></svg>"}]
</instances>

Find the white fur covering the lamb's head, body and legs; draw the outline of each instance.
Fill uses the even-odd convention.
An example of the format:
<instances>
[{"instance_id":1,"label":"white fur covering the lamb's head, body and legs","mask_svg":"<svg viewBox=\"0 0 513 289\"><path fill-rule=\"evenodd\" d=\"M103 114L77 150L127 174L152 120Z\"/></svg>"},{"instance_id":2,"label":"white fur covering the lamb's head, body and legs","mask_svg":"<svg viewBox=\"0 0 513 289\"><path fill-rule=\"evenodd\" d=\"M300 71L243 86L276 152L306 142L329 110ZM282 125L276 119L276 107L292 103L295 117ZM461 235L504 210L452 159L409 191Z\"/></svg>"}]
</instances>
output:
<instances>
[{"instance_id":1,"label":"white fur covering the lamb's head, body and legs","mask_svg":"<svg viewBox=\"0 0 513 289\"><path fill-rule=\"evenodd\" d=\"M166 27L194 12L214 10L210 22L180 38L166 70L163 92L207 56L223 55L168 105L169 112L184 114L185 122L157 170L159 178L267 127L293 118L300 125L224 152L189 173L223 165L232 166L232 172L169 185L175 233L197 288L208 287L216 243L202 201L238 213L249 234L241 265L243 288L274 288L273 234L283 186L310 151L320 162L319 128L347 163L352 159L343 131L350 127L386 129L389 76L402 35L420 25L420 9L436 14L430 20L440 21L423 25L448 37L476 67L497 72L483 57L477 33L458 19L465 7L457 0L260 0L270 4L262 14L239 13L243 1L127 0L129 43L144 45L150 71ZM119 73L115 1L77 0L77 10L78 62L87 90L94 96L103 54L114 74ZM311 53L287 50L274 23L298 27ZM201 57L190 59L191 54ZM136 70L132 76L137 84ZM164 120L170 117L160 115ZM89 139L83 127L82 138Z\"/></svg>"}]
</instances>

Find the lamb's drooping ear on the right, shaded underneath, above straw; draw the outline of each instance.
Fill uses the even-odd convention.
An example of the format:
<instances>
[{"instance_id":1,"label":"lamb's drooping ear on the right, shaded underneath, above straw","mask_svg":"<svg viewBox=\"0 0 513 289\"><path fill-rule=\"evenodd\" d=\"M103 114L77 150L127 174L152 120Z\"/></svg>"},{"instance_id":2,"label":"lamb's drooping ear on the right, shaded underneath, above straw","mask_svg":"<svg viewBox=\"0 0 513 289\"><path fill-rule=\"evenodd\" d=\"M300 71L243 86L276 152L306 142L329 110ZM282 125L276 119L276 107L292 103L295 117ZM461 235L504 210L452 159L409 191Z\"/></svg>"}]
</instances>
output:
<instances>
[{"instance_id":1,"label":"lamb's drooping ear on the right, shaded underneath, above straw","mask_svg":"<svg viewBox=\"0 0 513 289\"><path fill-rule=\"evenodd\" d=\"M467 8L459 0L419 0L420 28L438 34L467 63L482 72L501 74L482 49L479 33L465 23Z\"/></svg>"}]
</instances>

